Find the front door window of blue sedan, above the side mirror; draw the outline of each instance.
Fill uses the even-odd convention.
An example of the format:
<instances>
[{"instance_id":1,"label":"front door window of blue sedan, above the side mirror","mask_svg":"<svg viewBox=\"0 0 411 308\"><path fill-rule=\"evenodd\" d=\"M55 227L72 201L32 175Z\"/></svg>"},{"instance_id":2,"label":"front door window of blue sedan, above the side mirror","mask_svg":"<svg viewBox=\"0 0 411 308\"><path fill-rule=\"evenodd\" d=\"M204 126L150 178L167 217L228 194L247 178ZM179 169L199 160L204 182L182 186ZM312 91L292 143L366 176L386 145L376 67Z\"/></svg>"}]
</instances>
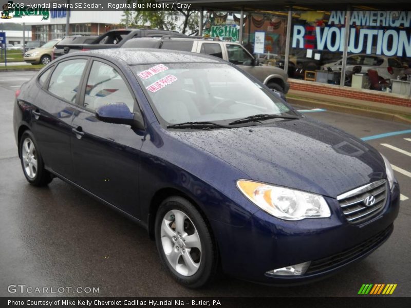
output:
<instances>
[{"instance_id":1,"label":"front door window of blue sedan, above the side mirror","mask_svg":"<svg viewBox=\"0 0 411 308\"><path fill-rule=\"evenodd\" d=\"M133 112L133 95L114 67L94 61L88 76L84 107L96 111L103 105L124 103Z\"/></svg>"}]
</instances>

